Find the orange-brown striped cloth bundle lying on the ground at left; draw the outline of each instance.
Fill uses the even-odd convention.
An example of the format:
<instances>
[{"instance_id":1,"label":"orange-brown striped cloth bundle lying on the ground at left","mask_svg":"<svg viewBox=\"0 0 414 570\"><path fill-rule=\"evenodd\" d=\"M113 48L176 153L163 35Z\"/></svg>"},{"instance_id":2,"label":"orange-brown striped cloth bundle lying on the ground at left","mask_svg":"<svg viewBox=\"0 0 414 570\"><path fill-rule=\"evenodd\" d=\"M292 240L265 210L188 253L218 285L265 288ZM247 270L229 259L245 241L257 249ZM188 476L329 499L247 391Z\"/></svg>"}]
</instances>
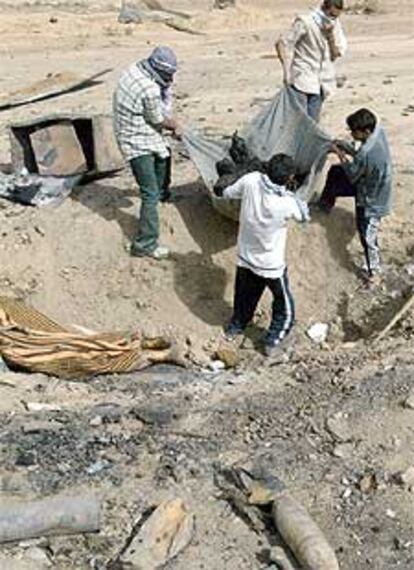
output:
<instances>
[{"instance_id":1,"label":"orange-brown striped cloth bundle lying on the ground at left","mask_svg":"<svg viewBox=\"0 0 414 570\"><path fill-rule=\"evenodd\" d=\"M182 364L177 346L141 332L79 333L15 299L0 297L0 355L13 369L75 379Z\"/></svg>"}]
</instances>

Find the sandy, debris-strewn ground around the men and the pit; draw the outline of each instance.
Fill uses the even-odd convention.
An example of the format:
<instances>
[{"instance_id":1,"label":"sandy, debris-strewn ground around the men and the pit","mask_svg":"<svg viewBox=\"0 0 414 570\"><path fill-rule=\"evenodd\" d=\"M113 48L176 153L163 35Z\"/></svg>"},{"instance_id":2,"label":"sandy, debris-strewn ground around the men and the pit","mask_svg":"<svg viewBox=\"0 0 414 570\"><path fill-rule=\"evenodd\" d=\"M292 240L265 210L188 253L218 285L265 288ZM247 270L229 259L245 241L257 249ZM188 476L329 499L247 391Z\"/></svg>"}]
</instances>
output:
<instances>
[{"instance_id":1,"label":"sandy, debris-strewn ground around the men and the pit","mask_svg":"<svg viewBox=\"0 0 414 570\"><path fill-rule=\"evenodd\" d=\"M174 46L179 55L178 118L212 136L231 134L280 87L278 62L270 57L274 39L309 3L251 2L223 12L211 11L209 2L171 3L190 11L191 26L203 35L159 23L118 24L114 4L1 3L2 96L49 73L113 71L92 89L1 112L0 163L10 160L8 123L50 112L110 112L121 70L157 43ZM7 375L0 384L0 410L8 422L0 432L3 472L22 478L23 494L94 486L107 505L100 536L40 545L53 567L104 568L146 506L181 494L197 511L200 531L171 568L268 568L267 539L257 537L224 501L216 501L212 488L215 461L264 456L318 517L342 568L414 566L412 495L392 483L392 474L414 461L413 412L402 412L400 405L411 384L411 323L399 331L401 341L382 345L379 352L366 352L361 341L351 352L341 344L380 328L412 287L407 267L413 251L409 105L414 104L414 15L409 0L379 0L377 5L373 14L356 10L343 18L350 49L339 71L347 82L326 103L322 124L332 134L343 134L346 115L367 106L387 128L395 210L381 229L386 268L382 288L370 294L359 289L359 245L352 208L344 200L329 219L316 216L306 229L291 228L289 267L299 355L293 362L271 366L248 349L238 375L191 376L161 369L92 383ZM0 293L24 298L66 324L99 330L172 328L186 339L193 359L206 364L211 339L231 310L237 226L213 210L197 178L194 167L177 154L174 184L182 200L161 206L162 241L174 253L162 263L130 259L125 252L139 207L127 170L77 189L56 210L2 202ZM266 325L268 312L266 298L259 329ZM312 348L304 335L315 321L331 325L322 349ZM25 422L38 419L21 403L33 399L63 406L59 417L66 438L60 433L49 439L21 434ZM115 428L88 423L93 406L103 401L122 410ZM145 424L129 415L132 404L176 409L179 418L173 428L200 430L207 440L174 439L165 426L161 433L157 427L148 433ZM326 417L338 411L355 422L345 458L333 454L338 442L324 428ZM112 434L111 449L91 443L97 431L102 438ZM129 452L119 431L131 439ZM78 438L82 443L77 449L71 441ZM27 446L37 450L37 463L29 469L16 467L16 454ZM55 462L51 449L59 450ZM105 453L116 468L96 478L85 474ZM62 464L69 465L66 472ZM359 490L366 473L378 478L367 496ZM24 559L26 550L18 547L6 554Z\"/></svg>"}]
</instances>

